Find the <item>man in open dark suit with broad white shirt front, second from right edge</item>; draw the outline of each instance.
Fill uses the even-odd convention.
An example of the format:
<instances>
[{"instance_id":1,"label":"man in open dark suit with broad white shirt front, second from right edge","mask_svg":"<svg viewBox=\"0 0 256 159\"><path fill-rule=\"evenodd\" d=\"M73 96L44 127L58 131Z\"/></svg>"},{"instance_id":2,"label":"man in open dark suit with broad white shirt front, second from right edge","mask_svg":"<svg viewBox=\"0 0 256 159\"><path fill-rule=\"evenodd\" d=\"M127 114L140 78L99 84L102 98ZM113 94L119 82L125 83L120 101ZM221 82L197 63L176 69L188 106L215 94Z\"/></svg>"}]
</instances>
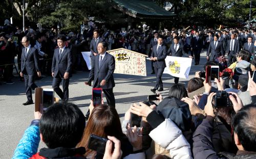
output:
<instances>
[{"instance_id":1,"label":"man in open dark suit with broad white shirt front, second from right edge","mask_svg":"<svg viewBox=\"0 0 256 159\"><path fill-rule=\"evenodd\" d=\"M227 41L226 53L228 55L228 67L236 60L236 54L239 51L239 42L234 37L235 35L232 33L230 39Z\"/></svg>"}]
</instances>

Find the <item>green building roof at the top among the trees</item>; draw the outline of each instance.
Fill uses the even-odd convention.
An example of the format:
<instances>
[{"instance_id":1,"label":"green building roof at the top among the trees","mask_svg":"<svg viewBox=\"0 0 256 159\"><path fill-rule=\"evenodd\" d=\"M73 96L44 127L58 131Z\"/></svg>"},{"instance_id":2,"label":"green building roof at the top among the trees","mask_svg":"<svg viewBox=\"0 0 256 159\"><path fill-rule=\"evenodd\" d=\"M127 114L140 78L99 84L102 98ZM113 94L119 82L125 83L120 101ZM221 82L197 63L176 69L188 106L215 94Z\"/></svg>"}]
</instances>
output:
<instances>
[{"instance_id":1,"label":"green building roof at the top among the trees","mask_svg":"<svg viewBox=\"0 0 256 159\"><path fill-rule=\"evenodd\" d=\"M175 14L166 11L150 0L113 0L114 8L140 19L169 19Z\"/></svg>"}]
</instances>

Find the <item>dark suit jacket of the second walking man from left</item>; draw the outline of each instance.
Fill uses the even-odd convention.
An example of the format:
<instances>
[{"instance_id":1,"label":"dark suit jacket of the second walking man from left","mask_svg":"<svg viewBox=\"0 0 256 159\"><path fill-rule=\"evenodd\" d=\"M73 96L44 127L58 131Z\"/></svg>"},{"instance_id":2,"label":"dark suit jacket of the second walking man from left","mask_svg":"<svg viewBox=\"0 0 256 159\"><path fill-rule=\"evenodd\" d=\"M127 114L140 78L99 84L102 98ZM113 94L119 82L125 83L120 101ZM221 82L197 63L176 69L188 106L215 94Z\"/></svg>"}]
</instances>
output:
<instances>
[{"instance_id":1,"label":"dark suit jacket of the second walking man from left","mask_svg":"<svg viewBox=\"0 0 256 159\"><path fill-rule=\"evenodd\" d=\"M59 56L60 60L59 60ZM54 50L54 55L52 59L52 72L54 72L54 77L60 73L61 77L64 76L65 72L69 73L69 77L72 76L72 54L71 49L65 47L65 49L62 51L62 54L59 55L59 48L56 48Z\"/></svg>"}]
</instances>

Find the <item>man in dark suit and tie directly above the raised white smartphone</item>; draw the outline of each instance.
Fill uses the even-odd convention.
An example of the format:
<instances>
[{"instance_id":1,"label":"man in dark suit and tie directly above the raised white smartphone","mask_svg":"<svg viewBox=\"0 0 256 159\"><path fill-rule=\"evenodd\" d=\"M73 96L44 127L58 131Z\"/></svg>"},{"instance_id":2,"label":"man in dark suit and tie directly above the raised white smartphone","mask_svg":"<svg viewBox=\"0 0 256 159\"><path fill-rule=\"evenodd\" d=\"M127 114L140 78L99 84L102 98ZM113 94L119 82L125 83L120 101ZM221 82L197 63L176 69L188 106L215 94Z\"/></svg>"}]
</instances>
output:
<instances>
[{"instance_id":1,"label":"man in dark suit and tie directly above the raised white smartphone","mask_svg":"<svg viewBox=\"0 0 256 159\"><path fill-rule=\"evenodd\" d=\"M208 61L214 61L220 56L224 56L224 49L222 42L218 40L218 35L214 36L214 41L210 42L210 45L207 50L207 57Z\"/></svg>"}]
</instances>

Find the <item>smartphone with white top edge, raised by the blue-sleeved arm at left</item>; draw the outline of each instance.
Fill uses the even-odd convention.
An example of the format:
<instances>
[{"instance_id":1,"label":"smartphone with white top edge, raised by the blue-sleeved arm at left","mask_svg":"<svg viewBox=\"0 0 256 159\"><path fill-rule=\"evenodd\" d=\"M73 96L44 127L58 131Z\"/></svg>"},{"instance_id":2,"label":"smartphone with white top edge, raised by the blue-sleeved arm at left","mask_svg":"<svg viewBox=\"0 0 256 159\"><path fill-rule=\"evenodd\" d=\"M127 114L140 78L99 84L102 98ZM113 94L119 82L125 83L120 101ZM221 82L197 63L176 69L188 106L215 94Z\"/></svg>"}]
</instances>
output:
<instances>
[{"instance_id":1,"label":"smartphone with white top edge, raised by the blue-sleeved arm at left","mask_svg":"<svg viewBox=\"0 0 256 159\"><path fill-rule=\"evenodd\" d=\"M47 110L54 103L54 90L52 88L42 89L42 107Z\"/></svg>"}]
</instances>

